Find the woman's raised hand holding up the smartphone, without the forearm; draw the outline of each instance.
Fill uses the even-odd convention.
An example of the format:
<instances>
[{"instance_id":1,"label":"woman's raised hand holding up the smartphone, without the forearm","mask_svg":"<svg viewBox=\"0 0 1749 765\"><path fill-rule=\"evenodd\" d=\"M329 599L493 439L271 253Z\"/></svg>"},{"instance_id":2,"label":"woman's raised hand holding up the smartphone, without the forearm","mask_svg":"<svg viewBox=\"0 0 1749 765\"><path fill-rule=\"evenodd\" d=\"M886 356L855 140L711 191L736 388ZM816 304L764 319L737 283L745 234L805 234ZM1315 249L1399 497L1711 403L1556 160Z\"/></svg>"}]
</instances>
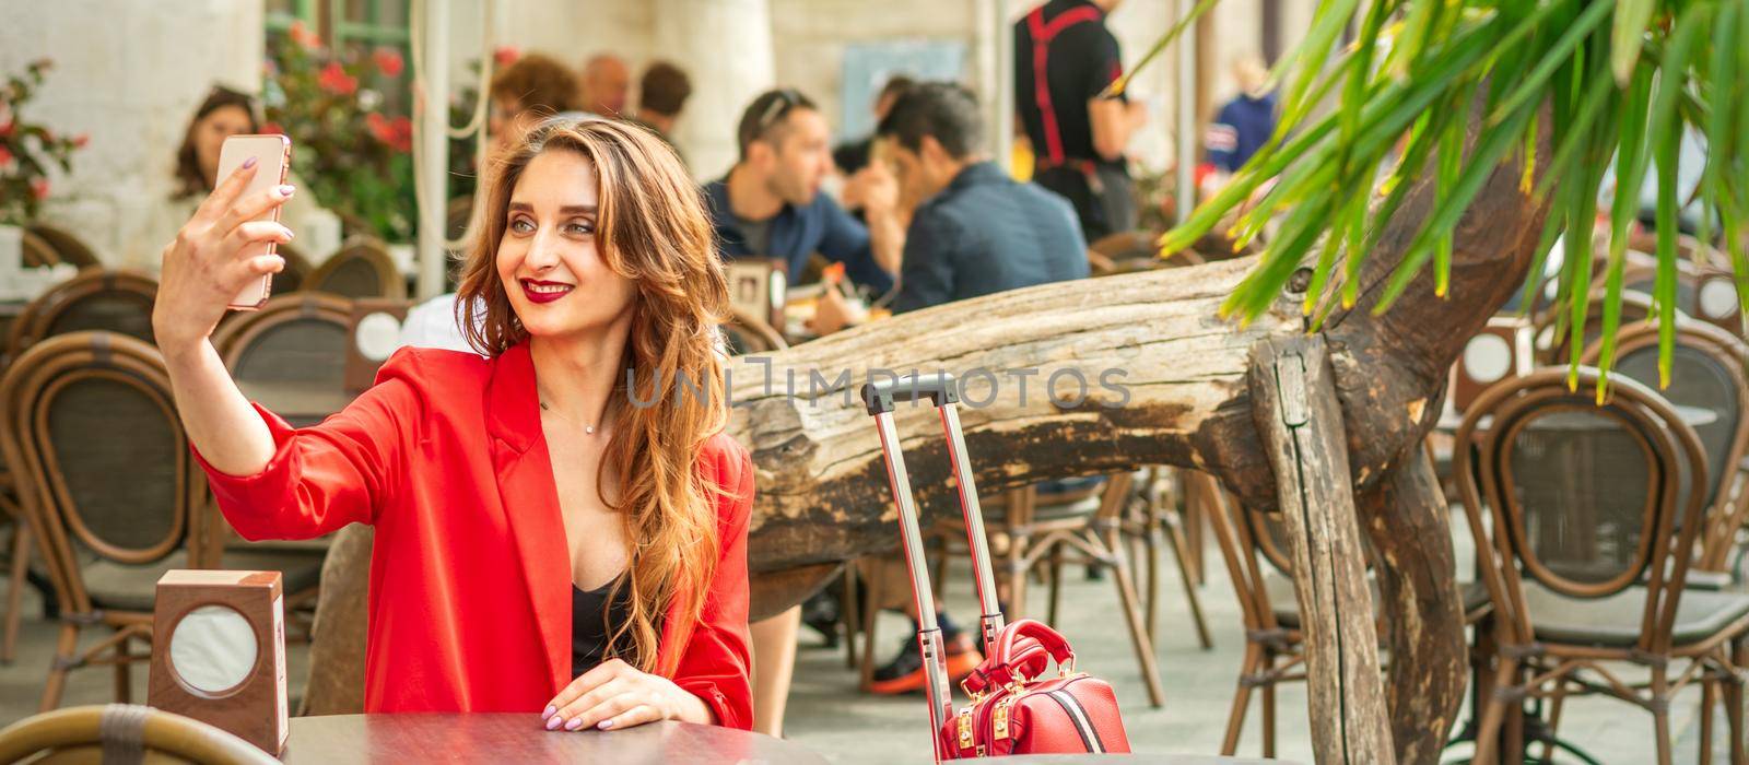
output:
<instances>
[{"instance_id":1,"label":"woman's raised hand holding up the smartphone, without the forearm","mask_svg":"<svg viewBox=\"0 0 1749 765\"><path fill-rule=\"evenodd\" d=\"M285 204L294 189L280 185L243 194L259 168L248 159L222 180L177 239L164 246L152 334L166 353L198 344L212 335L226 306L252 281L278 272L278 255L254 255L250 245L287 243L292 231L271 220L254 220Z\"/></svg>"}]
</instances>

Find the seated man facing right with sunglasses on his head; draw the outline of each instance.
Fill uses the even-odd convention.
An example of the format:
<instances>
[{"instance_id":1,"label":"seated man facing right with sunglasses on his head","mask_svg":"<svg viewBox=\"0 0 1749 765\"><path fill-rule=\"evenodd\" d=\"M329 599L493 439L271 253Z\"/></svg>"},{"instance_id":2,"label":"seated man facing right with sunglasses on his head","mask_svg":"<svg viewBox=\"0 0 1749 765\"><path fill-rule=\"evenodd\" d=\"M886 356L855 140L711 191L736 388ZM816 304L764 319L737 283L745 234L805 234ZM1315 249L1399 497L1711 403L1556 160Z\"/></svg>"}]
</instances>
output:
<instances>
[{"instance_id":1,"label":"seated man facing right with sunglasses on his head","mask_svg":"<svg viewBox=\"0 0 1749 765\"><path fill-rule=\"evenodd\" d=\"M897 187L862 194L868 225L820 194L833 171L831 131L813 101L792 89L764 93L742 114L736 138L740 161L705 187L724 257L782 260L794 283L819 252L845 264L852 281L892 288L904 248Z\"/></svg>"}]
</instances>

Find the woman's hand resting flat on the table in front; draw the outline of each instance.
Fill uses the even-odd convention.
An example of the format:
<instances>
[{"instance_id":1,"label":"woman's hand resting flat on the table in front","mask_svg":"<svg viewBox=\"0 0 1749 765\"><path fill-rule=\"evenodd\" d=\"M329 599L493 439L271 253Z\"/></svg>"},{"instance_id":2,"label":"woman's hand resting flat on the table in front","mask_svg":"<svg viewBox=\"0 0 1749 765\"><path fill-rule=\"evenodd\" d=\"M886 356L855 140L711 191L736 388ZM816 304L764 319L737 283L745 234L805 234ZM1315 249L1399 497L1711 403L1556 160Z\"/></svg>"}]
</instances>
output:
<instances>
[{"instance_id":1,"label":"woman's hand resting flat on the table in front","mask_svg":"<svg viewBox=\"0 0 1749 765\"><path fill-rule=\"evenodd\" d=\"M540 714L547 730L619 730L659 720L710 725L701 699L672 679L609 658L572 679Z\"/></svg>"}]
</instances>

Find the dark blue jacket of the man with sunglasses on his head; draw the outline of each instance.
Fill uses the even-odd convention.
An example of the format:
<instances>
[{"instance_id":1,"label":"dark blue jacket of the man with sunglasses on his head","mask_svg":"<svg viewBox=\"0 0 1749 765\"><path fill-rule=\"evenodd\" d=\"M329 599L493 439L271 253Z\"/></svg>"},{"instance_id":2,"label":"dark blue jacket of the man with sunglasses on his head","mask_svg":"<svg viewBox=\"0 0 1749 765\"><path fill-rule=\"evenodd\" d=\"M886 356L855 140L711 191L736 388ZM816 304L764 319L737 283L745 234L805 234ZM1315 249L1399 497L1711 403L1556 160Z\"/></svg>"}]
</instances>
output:
<instances>
[{"instance_id":1,"label":"dark blue jacket of the man with sunglasses on his head","mask_svg":"<svg viewBox=\"0 0 1749 765\"><path fill-rule=\"evenodd\" d=\"M761 253L747 246L740 225L735 224L726 176L705 185L705 201L724 258L750 255L778 258L789 265L789 278L796 279L808 265L808 255L819 252L827 260L845 264L845 276L852 281L876 293L892 288L892 274L874 262L869 229L826 194L815 194L806 206L784 204L777 218L771 218L771 252Z\"/></svg>"}]
</instances>

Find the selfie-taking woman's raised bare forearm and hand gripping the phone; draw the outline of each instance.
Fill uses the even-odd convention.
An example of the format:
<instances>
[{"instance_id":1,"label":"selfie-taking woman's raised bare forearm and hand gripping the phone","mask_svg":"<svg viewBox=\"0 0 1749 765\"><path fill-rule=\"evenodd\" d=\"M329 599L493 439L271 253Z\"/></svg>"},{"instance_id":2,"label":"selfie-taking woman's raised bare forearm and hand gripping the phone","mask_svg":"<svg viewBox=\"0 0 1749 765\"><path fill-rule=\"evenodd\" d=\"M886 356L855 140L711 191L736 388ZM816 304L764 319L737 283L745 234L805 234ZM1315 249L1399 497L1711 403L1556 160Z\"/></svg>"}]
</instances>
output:
<instances>
[{"instance_id":1,"label":"selfie-taking woman's raised bare forearm and hand gripping the phone","mask_svg":"<svg viewBox=\"0 0 1749 765\"><path fill-rule=\"evenodd\" d=\"M285 267L278 255L245 257L250 245L292 239L292 231L276 222L252 220L292 196L289 185L243 196L255 171L254 161L248 161L219 183L164 248L152 307L152 334L170 369L170 386L189 442L208 465L227 475L259 473L273 458L273 435L243 398L210 341L226 304L238 292Z\"/></svg>"}]
</instances>

